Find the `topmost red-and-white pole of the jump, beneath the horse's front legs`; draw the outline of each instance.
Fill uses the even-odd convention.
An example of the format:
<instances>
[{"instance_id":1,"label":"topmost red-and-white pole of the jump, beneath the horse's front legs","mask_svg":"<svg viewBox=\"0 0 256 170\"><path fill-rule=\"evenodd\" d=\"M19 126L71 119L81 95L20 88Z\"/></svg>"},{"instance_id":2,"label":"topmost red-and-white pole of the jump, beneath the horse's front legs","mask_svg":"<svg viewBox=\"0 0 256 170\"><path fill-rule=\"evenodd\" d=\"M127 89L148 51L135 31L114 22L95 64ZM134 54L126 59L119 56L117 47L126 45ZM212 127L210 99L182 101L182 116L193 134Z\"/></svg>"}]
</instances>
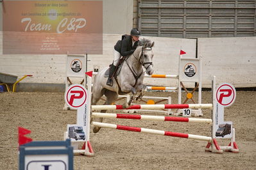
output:
<instances>
[{"instance_id":1,"label":"topmost red-and-white pole of the jump, beneath the horse's front legs","mask_svg":"<svg viewBox=\"0 0 256 170\"><path fill-rule=\"evenodd\" d=\"M116 109L212 109L212 104L131 105L128 108L124 108L123 105L92 105L92 110L116 110Z\"/></svg>"}]
</instances>

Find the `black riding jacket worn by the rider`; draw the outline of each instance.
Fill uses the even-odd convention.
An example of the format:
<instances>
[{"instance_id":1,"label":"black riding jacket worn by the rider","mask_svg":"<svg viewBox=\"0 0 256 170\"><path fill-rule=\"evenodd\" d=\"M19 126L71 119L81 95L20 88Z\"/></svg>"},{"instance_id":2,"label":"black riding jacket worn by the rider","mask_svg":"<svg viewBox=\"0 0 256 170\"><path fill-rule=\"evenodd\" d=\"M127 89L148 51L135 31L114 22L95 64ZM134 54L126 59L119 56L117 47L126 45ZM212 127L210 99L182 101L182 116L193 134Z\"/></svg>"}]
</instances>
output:
<instances>
[{"instance_id":1,"label":"black riding jacket worn by the rider","mask_svg":"<svg viewBox=\"0 0 256 170\"><path fill-rule=\"evenodd\" d=\"M126 57L133 54L138 46L138 43L139 41L135 42L132 46L132 36L123 35L122 40L119 40L117 43L115 43L114 49L117 50L121 56Z\"/></svg>"}]
</instances>

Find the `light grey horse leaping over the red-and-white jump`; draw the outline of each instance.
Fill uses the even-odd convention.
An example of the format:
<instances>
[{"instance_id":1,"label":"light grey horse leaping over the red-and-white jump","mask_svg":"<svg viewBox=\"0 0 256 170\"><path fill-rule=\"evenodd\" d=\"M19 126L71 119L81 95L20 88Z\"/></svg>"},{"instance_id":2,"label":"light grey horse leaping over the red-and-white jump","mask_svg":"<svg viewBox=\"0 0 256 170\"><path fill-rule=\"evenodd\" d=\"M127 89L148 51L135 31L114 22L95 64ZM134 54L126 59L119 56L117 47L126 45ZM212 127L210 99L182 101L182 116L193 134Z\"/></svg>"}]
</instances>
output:
<instances>
[{"instance_id":1,"label":"light grey horse leaping over the red-and-white jump","mask_svg":"<svg viewBox=\"0 0 256 170\"><path fill-rule=\"evenodd\" d=\"M137 92L142 92L142 89L146 88L143 85L143 66L148 75L152 75L153 73L153 45L154 42L152 43L147 39L143 38L140 40L139 45L133 54L124 59L123 66L119 68L121 70L117 70L117 75L115 75L113 80L113 86L108 86L106 84L108 77L105 76L105 72L108 68L99 72L94 79L92 105L96 105L103 95L107 97L105 105L110 105L117 100L118 95L132 92L131 100L128 102L128 105L130 105L135 94ZM102 110L101 112L107 111ZM102 122L103 118L99 118L99 121ZM93 132L97 133L99 129L100 127L94 127Z\"/></svg>"}]
</instances>

